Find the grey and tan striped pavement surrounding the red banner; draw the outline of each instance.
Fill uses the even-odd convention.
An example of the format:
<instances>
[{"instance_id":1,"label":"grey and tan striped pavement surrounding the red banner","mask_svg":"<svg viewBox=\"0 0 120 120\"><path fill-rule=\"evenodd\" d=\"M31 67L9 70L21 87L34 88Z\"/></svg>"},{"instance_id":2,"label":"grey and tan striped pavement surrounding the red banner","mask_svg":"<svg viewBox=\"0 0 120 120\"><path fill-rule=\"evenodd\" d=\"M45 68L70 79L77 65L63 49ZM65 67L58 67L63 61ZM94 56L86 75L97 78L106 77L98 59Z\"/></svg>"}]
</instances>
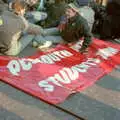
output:
<instances>
[{"instance_id":1,"label":"grey and tan striped pavement surrounding the red banner","mask_svg":"<svg viewBox=\"0 0 120 120\"><path fill-rule=\"evenodd\" d=\"M28 46L20 56L36 52ZM120 120L120 66L58 106L86 120ZM80 120L0 82L0 120Z\"/></svg>"}]
</instances>

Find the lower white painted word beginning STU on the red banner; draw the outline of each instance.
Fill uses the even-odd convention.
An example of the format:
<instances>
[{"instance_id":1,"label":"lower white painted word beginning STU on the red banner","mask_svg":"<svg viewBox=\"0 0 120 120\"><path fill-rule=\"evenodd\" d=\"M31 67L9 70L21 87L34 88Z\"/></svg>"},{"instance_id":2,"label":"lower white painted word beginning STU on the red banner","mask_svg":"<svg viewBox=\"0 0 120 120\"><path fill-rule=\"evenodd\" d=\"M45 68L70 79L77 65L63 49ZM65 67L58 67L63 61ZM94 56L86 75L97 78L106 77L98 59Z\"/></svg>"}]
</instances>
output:
<instances>
[{"instance_id":1,"label":"lower white painted word beginning STU on the red banner","mask_svg":"<svg viewBox=\"0 0 120 120\"><path fill-rule=\"evenodd\" d=\"M79 78L79 73L87 72L87 70L91 66L97 65L98 61L99 61L99 59L89 58L86 62L82 62L81 64L72 66L71 68L65 67L62 70L60 70L58 73L54 74L51 77L48 77L47 79L45 79L43 81L49 82L49 84L51 84L53 86L53 91L54 91L54 89L55 89L54 85L63 87L63 84L71 84L72 81L77 80ZM40 81L40 82L42 82L42 81ZM46 91L46 89L45 89L45 91Z\"/></svg>"}]
</instances>

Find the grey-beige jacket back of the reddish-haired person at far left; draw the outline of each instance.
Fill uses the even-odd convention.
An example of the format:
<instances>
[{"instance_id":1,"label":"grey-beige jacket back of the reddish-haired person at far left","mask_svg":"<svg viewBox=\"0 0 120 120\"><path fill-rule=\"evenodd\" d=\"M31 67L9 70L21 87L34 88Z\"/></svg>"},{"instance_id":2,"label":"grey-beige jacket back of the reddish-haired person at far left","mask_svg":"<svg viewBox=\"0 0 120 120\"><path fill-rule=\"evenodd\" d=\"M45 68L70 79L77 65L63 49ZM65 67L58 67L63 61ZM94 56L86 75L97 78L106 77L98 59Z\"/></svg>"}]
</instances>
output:
<instances>
[{"instance_id":1,"label":"grey-beige jacket back of the reddish-haired person at far left","mask_svg":"<svg viewBox=\"0 0 120 120\"><path fill-rule=\"evenodd\" d=\"M2 49L4 47L6 51L4 51L3 54L7 54L9 49L12 47L12 42L19 39L21 32L25 29L25 26L19 16L9 11L4 11L0 16L0 20L0 36L2 36L0 39L0 49L1 47Z\"/></svg>"}]
</instances>

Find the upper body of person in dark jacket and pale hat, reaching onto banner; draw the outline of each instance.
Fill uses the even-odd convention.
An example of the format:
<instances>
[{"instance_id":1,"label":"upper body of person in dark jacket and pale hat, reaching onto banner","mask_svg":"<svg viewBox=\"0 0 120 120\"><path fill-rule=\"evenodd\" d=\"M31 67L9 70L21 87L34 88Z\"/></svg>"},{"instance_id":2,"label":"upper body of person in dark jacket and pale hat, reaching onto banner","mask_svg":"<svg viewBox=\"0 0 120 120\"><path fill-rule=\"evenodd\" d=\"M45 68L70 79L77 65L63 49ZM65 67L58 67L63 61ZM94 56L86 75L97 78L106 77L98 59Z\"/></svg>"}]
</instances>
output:
<instances>
[{"instance_id":1,"label":"upper body of person in dark jacket and pale hat, reaching onto banner","mask_svg":"<svg viewBox=\"0 0 120 120\"><path fill-rule=\"evenodd\" d=\"M85 52L92 42L92 33L86 19L80 15L77 4L70 3L65 12L66 21L59 25L60 33L66 43L77 42L84 38L80 52ZM64 19L65 19L64 18Z\"/></svg>"}]
</instances>

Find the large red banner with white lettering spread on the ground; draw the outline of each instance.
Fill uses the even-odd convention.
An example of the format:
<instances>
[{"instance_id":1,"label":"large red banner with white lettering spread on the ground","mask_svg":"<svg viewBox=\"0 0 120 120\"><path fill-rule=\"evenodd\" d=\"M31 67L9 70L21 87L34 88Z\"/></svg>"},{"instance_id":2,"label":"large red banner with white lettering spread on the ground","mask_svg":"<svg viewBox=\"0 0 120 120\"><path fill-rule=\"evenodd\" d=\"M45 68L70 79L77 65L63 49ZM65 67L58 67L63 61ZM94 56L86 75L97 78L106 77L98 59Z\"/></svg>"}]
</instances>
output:
<instances>
[{"instance_id":1,"label":"large red banner with white lettering spread on the ground","mask_svg":"<svg viewBox=\"0 0 120 120\"><path fill-rule=\"evenodd\" d=\"M120 64L120 45L94 39L80 54L81 43L26 58L0 56L0 79L49 103L63 102Z\"/></svg>"}]
</instances>

